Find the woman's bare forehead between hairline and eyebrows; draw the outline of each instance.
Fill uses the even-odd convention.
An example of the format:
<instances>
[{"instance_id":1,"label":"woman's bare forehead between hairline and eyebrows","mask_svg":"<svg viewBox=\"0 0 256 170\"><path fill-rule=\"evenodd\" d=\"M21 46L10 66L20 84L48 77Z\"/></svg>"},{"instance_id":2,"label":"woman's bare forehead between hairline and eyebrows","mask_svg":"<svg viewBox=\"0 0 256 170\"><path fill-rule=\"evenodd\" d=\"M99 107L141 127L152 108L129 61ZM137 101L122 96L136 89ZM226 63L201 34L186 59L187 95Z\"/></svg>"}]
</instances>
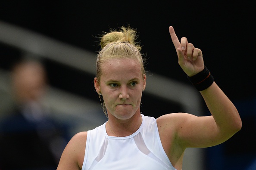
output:
<instances>
[{"instance_id":1,"label":"woman's bare forehead between hairline and eyebrows","mask_svg":"<svg viewBox=\"0 0 256 170\"><path fill-rule=\"evenodd\" d=\"M102 78L142 77L141 65L137 59L109 59L101 68Z\"/></svg>"}]
</instances>

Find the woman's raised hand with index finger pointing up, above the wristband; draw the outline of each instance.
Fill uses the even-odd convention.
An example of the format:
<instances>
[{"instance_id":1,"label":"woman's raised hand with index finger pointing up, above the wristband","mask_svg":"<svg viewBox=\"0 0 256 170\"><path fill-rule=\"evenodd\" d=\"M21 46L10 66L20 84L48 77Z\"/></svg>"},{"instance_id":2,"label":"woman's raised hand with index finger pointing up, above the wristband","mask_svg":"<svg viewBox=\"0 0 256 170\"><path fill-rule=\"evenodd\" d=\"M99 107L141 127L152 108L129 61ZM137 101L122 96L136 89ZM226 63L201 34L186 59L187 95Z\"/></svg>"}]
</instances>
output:
<instances>
[{"instance_id":1,"label":"woman's raised hand with index finger pointing up, above the wristband","mask_svg":"<svg viewBox=\"0 0 256 170\"><path fill-rule=\"evenodd\" d=\"M172 26L169 27L169 32L182 70L190 77L202 71L204 64L201 49L195 48L192 43L188 43L186 37L182 37L180 42Z\"/></svg>"}]
</instances>

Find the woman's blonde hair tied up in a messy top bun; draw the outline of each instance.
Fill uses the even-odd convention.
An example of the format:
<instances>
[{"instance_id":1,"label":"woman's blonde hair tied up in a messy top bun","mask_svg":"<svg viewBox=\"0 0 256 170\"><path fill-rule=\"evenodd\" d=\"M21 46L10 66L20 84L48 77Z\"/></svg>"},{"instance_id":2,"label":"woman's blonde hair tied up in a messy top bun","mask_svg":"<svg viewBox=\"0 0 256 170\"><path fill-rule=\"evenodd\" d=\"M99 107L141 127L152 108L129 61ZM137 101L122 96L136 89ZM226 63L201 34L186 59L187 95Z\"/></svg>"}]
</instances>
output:
<instances>
[{"instance_id":1,"label":"woman's blonde hair tied up in a messy top bun","mask_svg":"<svg viewBox=\"0 0 256 170\"><path fill-rule=\"evenodd\" d=\"M136 42L136 33L137 31L130 26L122 26L119 30L110 30L109 33L104 32L101 35L101 50L97 55L96 61L96 78L98 83L100 83L100 76L102 75L101 65L109 59L137 59L141 66L142 75L146 75L144 68L145 59L140 53L141 46ZM101 104L107 116L104 102L101 101Z\"/></svg>"}]
</instances>

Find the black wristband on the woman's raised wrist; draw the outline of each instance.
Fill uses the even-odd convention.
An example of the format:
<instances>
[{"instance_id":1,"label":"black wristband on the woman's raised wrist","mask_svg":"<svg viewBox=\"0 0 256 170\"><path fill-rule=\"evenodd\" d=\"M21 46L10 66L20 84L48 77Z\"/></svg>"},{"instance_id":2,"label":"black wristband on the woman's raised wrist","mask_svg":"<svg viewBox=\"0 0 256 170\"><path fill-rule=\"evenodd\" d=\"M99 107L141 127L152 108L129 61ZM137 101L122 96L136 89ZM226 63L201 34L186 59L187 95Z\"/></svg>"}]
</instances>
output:
<instances>
[{"instance_id":1,"label":"black wristband on the woman's raised wrist","mask_svg":"<svg viewBox=\"0 0 256 170\"><path fill-rule=\"evenodd\" d=\"M189 77L188 80L196 87L198 91L206 90L214 82L214 78L210 71L204 66L203 71L197 73L196 75Z\"/></svg>"}]
</instances>

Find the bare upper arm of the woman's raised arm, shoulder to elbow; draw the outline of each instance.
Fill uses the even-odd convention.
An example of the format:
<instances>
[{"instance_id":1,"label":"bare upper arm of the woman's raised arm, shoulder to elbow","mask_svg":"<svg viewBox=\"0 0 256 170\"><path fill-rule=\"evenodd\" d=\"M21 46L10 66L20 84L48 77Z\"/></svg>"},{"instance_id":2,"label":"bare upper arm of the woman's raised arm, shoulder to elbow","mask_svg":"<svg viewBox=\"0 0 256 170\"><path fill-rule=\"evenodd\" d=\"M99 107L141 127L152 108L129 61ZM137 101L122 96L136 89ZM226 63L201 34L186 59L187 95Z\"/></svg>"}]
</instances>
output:
<instances>
[{"instance_id":1,"label":"bare upper arm of the woman's raised arm, shoulder to elbow","mask_svg":"<svg viewBox=\"0 0 256 170\"><path fill-rule=\"evenodd\" d=\"M218 128L212 116L172 113L159 117L157 124L160 138L162 135L165 140L162 142L179 145L183 149L210 147L229 138Z\"/></svg>"}]
</instances>

